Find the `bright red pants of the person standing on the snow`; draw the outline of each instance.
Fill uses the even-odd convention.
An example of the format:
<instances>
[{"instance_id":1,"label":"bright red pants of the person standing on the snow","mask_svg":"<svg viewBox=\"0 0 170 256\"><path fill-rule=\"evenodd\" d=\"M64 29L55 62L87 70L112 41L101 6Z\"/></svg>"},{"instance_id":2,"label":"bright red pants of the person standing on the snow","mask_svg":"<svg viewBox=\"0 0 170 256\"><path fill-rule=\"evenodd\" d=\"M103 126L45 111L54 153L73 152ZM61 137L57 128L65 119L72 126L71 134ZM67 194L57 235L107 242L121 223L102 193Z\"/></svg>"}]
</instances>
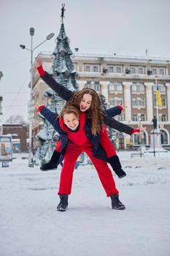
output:
<instances>
[{"instance_id":1,"label":"bright red pants of the person standing on the snow","mask_svg":"<svg viewBox=\"0 0 170 256\"><path fill-rule=\"evenodd\" d=\"M85 146L77 146L73 143L67 143L63 167L61 170L61 180L58 195L71 194L74 165L82 152L88 154L88 157L93 162L94 167L96 167L101 184L107 193L107 197L110 195L117 195L119 192L115 187L112 172L109 169L107 162L93 157L91 143L88 143Z\"/></svg>"}]
</instances>

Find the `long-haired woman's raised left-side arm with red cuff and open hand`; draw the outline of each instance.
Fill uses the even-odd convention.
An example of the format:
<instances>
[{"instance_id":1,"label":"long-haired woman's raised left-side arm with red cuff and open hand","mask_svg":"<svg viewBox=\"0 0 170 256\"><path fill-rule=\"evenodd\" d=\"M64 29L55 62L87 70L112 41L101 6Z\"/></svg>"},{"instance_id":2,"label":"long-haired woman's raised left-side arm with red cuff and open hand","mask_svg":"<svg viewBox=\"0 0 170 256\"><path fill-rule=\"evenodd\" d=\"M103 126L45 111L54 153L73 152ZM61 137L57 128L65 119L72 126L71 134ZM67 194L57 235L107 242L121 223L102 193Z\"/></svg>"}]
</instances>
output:
<instances>
[{"instance_id":1,"label":"long-haired woman's raised left-side arm with red cuff and open hand","mask_svg":"<svg viewBox=\"0 0 170 256\"><path fill-rule=\"evenodd\" d=\"M74 91L70 91L69 89L66 89L65 86L62 86L60 83L55 81L53 76L48 74L43 69L41 59L37 59L36 69L39 72L39 75L42 78L42 80L44 80L45 83L47 83L47 85L50 86L50 88L53 89L53 91L55 91L56 94L58 94L59 97L61 97L62 99L66 100L66 101L68 101L72 97L72 95L74 94Z\"/></svg>"}]
</instances>

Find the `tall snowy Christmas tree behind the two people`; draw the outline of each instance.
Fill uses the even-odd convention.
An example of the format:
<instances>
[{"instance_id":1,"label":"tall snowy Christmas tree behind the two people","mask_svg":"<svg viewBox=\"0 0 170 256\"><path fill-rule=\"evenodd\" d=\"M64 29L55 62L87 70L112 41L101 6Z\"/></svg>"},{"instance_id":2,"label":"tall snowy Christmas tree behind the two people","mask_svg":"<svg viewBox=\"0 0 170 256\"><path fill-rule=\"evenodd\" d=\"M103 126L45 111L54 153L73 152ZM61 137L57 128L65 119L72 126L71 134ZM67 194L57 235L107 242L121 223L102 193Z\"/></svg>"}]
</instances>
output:
<instances>
[{"instance_id":1,"label":"tall snowy Christmas tree behind the two people","mask_svg":"<svg viewBox=\"0 0 170 256\"><path fill-rule=\"evenodd\" d=\"M66 32L63 25L63 19L61 23L61 30L58 37L55 39L56 47L53 52L54 60L51 69L51 75L55 80L65 86L71 91L77 89L77 82L75 80L76 71L72 63L71 55L72 50L69 48L69 39L66 37ZM53 112L60 113L65 101L58 97L52 89L47 89L45 96L50 99L50 103L47 103L46 107ZM48 100L49 102L49 100ZM42 129L36 135L36 139L40 141L41 146L36 151L36 159L41 159L41 164L45 164L50 160L55 148L55 141L58 140L58 136L54 131L51 124L43 118L44 124ZM36 162L39 162L36 160Z\"/></svg>"}]
</instances>

